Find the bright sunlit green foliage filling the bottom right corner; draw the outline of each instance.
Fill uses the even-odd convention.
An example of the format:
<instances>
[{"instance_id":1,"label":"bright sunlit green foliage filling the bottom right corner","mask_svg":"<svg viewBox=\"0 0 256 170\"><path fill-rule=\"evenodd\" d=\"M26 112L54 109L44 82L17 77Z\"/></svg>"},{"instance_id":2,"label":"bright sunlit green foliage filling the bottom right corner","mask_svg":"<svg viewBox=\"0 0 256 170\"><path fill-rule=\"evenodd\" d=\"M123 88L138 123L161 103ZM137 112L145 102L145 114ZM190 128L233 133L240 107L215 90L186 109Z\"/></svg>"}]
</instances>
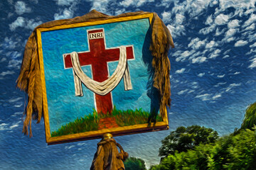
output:
<instances>
[{"instance_id":1,"label":"bright sunlit green foliage filling the bottom right corner","mask_svg":"<svg viewBox=\"0 0 256 170\"><path fill-rule=\"evenodd\" d=\"M154 166L153 166L154 167ZM152 170L171 169L256 169L256 134L240 130L211 145L198 145L187 152L175 152Z\"/></svg>"}]
</instances>

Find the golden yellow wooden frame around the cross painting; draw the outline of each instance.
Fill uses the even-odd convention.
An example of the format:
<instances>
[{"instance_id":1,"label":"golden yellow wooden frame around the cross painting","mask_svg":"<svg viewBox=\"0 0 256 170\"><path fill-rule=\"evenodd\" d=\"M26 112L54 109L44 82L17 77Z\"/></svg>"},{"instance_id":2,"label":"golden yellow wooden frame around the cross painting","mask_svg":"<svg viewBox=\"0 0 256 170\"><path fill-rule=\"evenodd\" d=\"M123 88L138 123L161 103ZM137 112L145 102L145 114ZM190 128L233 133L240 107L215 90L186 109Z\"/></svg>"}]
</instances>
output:
<instances>
[{"instance_id":1,"label":"golden yellow wooden frame around the cross painting","mask_svg":"<svg viewBox=\"0 0 256 170\"><path fill-rule=\"evenodd\" d=\"M51 137L50 135L50 123L49 123L49 116L48 116L48 101L46 96L46 81L45 81L45 74L44 74L44 67L43 67L43 50L42 50L42 42L41 42L41 32L49 31L49 30L60 30L65 28L77 28L77 27L83 27L83 26L95 26L105 23L116 23L116 22L122 22L122 21L132 21L142 18L149 18L149 23L151 23L153 18L153 13L147 13L142 14L138 16L126 16L126 17L120 17L120 18L111 18L108 20L102 20L102 21L88 21L84 23L73 23L63 26L54 26L51 28L38 28L36 29L37 34L37 43L38 43L38 55L39 55L39 62L40 62L40 68L41 68L41 81L42 81L42 89L43 89L43 111L44 111L44 122L45 122L45 130L46 130L46 142L49 145L57 144L57 143L63 143L63 142L72 142L72 141L78 141L78 140L91 140L102 137L103 134L110 132L112 135L127 135L127 134L134 134L139 132L151 132L155 130L167 130L169 129L169 122L168 122L168 116L167 111L165 109L163 114L163 122L157 122L157 123L146 123L146 124L139 124L139 125L129 125L124 127L118 127L118 128L111 128L111 129L103 129L103 130L95 130L90 132L81 132L77 134L71 134L71 135L63 135L60 137Z\"/></svg>"}]
</instances>

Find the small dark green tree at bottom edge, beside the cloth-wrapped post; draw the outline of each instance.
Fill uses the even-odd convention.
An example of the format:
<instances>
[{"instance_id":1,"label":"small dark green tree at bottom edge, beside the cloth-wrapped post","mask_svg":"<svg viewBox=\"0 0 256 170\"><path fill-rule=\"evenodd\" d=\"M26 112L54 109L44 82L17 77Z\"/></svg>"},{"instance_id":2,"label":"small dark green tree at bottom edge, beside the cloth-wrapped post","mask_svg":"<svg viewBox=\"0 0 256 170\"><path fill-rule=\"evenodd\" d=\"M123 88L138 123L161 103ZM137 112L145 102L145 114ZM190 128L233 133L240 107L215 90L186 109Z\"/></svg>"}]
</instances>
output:
<instances>
[{"instance_id":1,"label":"small dark green tree at bottom edge, beside the cloth-wrapped post","mask_svg":"<svg viewBox=\"0 0 256 170\"><path fill-rule=\"evenodd\" d=\"M135 157L129 157L124 162L125 170L146 170L144 160Z\"/></svg>"}]
</instances>

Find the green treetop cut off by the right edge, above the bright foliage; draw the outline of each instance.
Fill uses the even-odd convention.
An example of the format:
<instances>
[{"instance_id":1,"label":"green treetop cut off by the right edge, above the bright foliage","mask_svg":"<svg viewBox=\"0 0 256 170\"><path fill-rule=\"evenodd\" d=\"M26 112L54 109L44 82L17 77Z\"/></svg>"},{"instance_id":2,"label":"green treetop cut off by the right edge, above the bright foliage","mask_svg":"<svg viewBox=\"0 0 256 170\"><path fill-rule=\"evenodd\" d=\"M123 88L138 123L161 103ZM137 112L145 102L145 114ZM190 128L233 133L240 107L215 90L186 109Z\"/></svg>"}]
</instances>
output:
<instances>
[{"instance_id":1,"label":"green treetop cut off by the right edge, above the bright foliage","mask_svg":"<svg viewBox=\"0 0 256 170\"><path fill-rule=\"evenodd\" d=\"M241 129L254 128L256 125L256 102L247 107L245 111L245 118L242 122Z\"/></svg>"}]
</instances>

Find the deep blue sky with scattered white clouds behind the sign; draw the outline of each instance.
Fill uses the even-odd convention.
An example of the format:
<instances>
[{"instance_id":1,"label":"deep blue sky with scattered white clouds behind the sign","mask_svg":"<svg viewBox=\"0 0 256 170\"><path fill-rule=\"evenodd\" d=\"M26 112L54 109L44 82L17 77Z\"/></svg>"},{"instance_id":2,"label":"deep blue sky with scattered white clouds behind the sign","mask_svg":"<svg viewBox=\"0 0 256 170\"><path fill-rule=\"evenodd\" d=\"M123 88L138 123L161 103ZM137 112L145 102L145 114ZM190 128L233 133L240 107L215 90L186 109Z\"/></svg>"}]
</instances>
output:
<instances>
[{"instance_id":1,"label":"deep blue sky with scattered white clouds behind the sign","mask_svg":"<svg viewBox=\"0 0 256 170\"><path fill-rule=\"evenodd\" d=\"M228 135L239 128L256 101L255 0L55 0L0 2L0 169L89 169L97 142L46 144L43 121L33 137L21 133L27 100L16 89L23 50L41 23L82 16L156 12L169 28L175 48L171 62L169 130L114 137L149 168L159 164L161 140L178 126L203 125Z\"/></svg>"}]
</instances>

